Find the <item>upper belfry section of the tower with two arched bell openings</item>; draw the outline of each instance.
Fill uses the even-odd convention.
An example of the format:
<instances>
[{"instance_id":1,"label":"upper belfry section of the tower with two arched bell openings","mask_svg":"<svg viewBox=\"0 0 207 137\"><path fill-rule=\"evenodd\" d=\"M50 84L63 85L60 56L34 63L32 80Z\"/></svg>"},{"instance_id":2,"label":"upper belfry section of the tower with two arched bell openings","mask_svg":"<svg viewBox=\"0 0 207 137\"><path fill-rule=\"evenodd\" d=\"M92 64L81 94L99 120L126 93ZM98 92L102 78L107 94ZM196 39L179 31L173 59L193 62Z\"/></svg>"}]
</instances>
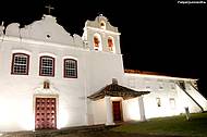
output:
<instances>
[{"instance_id":1,"label":"upper belfry section of the tower with two arched bell openings","mask_svg":"<svg viewBox=\"0 0 207 137\"><path fill-rule=\"evenodd\" d=\"M120 35L118 27L99 14L95 21L86 21L83 39L90 50L120 54Z\"/></svg>"}]
</instances>

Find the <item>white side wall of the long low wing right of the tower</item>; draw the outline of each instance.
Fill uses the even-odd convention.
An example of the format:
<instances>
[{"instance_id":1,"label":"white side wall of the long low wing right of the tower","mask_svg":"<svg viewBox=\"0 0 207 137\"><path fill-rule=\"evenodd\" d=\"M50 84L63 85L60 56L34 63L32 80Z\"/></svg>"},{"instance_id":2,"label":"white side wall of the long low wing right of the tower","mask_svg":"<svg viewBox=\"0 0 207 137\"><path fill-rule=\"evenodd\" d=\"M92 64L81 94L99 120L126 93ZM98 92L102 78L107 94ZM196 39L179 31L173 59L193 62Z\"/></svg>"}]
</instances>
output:
<instances>
[{"instance_id":1,"label":"white side wall of the long low wing right of the tower","mask_svg":"<svg viewBox=\"0 0 207 137\"><path fill-rule=\"evenodd\" d=\"M129 73L124 75L123 79L125 85L137 91L150 91L150 94L144 95L145 115L147 119L185 113L185 107L190 108L190 112L200 112L197 104L178 87L176 83L179 80L184 80L187 84L194 79ZM206 109L207 100L198 91L193 89L193 87L191 87L191 90L187 89L187 91ZM157 98L160 99L160 107L157 104Z\"/></svg>"}]
</instances>

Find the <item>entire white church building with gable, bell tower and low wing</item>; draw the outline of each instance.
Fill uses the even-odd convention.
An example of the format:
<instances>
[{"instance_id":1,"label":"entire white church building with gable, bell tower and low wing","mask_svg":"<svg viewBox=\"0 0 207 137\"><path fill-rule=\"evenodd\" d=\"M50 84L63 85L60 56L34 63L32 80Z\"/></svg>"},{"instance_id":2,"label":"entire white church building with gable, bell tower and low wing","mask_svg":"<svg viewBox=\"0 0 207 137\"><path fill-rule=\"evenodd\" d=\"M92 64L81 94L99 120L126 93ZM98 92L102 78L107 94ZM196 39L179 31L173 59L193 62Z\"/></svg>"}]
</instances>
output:
<instances>
[{"instance_id":1,"label":"entire white church building with gable, bell tower and low wing","mask_svg":"<svg viewBox=\"0 0 207 137\"><path fill-rule=\"evenodd\" d=\"M207 110L197 79L124 70L118 27L99 15L83 36L56 17L0 26L0 132L146 121Z\"/></svg>"}]
</instances>

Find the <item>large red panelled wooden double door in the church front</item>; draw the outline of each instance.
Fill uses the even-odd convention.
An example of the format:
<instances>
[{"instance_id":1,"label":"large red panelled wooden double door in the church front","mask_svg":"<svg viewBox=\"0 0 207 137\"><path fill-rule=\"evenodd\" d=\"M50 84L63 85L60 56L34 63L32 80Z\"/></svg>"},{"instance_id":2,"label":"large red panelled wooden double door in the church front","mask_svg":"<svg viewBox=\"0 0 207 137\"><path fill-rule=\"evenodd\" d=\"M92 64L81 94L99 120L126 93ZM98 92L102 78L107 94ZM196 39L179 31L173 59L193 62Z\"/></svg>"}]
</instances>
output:
<instances>
[{"instance_id":1,"label":"large red panelled wooden double door in the church front","mask_svg":"<svg viewBox=\"0 0 207 137\"><path fill-rule=\"evenodd\" d=\"M36 98L35 129L56 128L56 98Z\"/></svg>"}]
</instances>

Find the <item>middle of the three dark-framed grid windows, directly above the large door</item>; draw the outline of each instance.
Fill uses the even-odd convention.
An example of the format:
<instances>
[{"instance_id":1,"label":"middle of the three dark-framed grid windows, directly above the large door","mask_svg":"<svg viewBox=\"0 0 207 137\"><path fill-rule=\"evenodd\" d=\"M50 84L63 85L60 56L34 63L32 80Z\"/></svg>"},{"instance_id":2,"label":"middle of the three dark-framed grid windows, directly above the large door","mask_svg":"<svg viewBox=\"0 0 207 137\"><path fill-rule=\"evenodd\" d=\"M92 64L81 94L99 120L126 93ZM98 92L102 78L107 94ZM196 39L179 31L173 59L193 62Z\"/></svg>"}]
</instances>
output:
<instances>
[{"instance_id":1,"label":"middle of the three dark-framed grid windows, directly above the large door","mask_svg":"<svg viewBox=\"0 0 207 137\"><path fill-rule=\"evenodd\" d=\"M54 58L40 57L39 75L54 76Z\"/></svg>"}]
</instances>

